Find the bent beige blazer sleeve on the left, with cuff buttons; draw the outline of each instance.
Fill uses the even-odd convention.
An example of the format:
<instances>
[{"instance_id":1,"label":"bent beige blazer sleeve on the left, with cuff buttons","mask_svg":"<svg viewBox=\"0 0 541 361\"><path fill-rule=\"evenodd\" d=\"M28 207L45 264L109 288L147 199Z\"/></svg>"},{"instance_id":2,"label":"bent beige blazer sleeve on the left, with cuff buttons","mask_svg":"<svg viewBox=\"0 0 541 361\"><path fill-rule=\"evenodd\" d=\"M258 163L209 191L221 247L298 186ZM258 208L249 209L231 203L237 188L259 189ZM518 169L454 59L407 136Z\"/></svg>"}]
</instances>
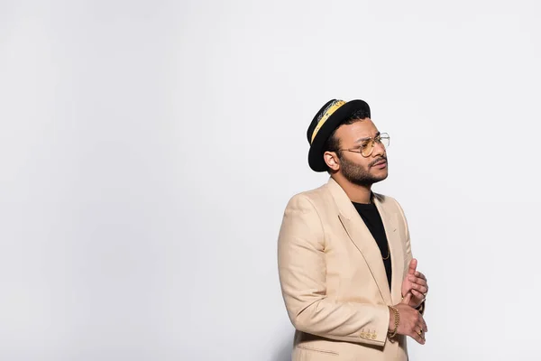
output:
<instances>
[{"instance_id":1,"label":"bent beige blazer sleeve on the left, with cuff buttons","mask_svg":"<svg viewBox=\"0 0 541 361\"><path fill-rule=\"evenodd\" d=\"M289 200L284 212L278 264L282 295L295 329L340 341L385 344L387 306L327 297L325 233L306 195Z\"/></svg>"}]
</instances>

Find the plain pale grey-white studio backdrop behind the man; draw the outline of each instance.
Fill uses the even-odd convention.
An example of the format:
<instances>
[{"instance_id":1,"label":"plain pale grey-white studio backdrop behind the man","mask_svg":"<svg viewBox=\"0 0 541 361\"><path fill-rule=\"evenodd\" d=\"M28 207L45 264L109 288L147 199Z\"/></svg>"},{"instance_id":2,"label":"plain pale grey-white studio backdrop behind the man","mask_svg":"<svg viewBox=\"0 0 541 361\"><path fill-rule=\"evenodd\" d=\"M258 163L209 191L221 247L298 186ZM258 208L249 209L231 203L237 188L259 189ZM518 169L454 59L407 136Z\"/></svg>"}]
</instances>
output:
<instances>
[{"instance_id":1,"label":"plain pale grey-white studio backdrop behind the man","mask_svg":"<svg viewBox=\"0 0 541 361\"><path fill-rule=\"evenodd\" d=\"M306 129L391 135L431 291L414 360L536 360L535 1L0 1L0 359L289 359Z\"/></svg>"}]
</instances>

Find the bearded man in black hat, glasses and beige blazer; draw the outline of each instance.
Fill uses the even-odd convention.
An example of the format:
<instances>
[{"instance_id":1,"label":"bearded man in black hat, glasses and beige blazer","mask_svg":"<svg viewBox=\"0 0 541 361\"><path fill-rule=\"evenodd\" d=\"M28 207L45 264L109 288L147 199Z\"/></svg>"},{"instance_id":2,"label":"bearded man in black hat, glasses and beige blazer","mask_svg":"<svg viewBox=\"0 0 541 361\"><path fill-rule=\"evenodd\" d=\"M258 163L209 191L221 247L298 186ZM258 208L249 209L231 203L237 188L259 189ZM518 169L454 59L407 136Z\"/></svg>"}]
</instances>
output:
<instances>
[{"instance_id":1,"label":"bearded man in black hat, glasses and beige blazer","mask_svg":"<svg viewBox=\"0 0 541 361\"><path fill-rule=\"evenodd\" d=\"M425 344L426 277L399 203L371 191L388 175L388 134L362 100L331 100L307 130L322 187L289 200L278 241L281 290L296 329L293 361L407 360Z\"/></svg>"}]
</instances>

